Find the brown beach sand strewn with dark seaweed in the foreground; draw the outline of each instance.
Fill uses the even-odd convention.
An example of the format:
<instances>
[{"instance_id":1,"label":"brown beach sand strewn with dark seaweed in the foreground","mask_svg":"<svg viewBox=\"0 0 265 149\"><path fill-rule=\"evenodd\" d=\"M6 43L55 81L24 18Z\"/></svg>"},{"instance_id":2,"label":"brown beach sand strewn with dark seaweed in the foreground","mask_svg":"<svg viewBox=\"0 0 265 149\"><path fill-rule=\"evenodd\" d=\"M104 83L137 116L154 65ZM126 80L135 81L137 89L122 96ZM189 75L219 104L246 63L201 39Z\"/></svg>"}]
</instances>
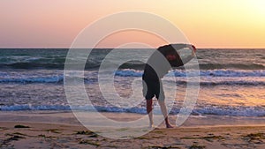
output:
<instances>
[{"instance_id":1,"label":"brown beach sand strewn with dark seaweed in the foreground","mask_svg":"<svg viewBox=\"0 0 265 149\"><path fill-rule=\"evenodd\" d=\"M261 124L174 129L159 126L139 138L112 139L87 130L78 121L69 121L74 119L69 117L71 113L59 114L63 123L55 122L58 118L50 116L56 117L57 113L38 114L39 118L36 114L25 113L24 117L15 114L0 114L0 148L265 148L265 126Z\"/></svg>"}]
</instances>

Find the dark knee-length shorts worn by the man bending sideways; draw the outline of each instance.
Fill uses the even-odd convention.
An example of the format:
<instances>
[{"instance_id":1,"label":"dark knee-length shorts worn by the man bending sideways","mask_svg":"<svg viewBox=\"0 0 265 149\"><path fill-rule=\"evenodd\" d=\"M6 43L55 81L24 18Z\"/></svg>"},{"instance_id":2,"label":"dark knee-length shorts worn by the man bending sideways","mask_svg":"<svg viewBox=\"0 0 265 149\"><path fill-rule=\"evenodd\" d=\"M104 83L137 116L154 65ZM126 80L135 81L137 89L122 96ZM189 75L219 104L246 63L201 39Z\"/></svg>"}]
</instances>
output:
<instances>
[{"instance_id":1,"label":"dark knee-length shorts worn by the man bending sideways","mask_svg":"<svg viewBox=\"0 0 265 149\"><path fill-rule=\"evenodd\" d=\"M151 100L154 97L157 100L164 100L163 85L161 80L142 80L143 96L146 100Z\"/></svg>"}]
</instances>

